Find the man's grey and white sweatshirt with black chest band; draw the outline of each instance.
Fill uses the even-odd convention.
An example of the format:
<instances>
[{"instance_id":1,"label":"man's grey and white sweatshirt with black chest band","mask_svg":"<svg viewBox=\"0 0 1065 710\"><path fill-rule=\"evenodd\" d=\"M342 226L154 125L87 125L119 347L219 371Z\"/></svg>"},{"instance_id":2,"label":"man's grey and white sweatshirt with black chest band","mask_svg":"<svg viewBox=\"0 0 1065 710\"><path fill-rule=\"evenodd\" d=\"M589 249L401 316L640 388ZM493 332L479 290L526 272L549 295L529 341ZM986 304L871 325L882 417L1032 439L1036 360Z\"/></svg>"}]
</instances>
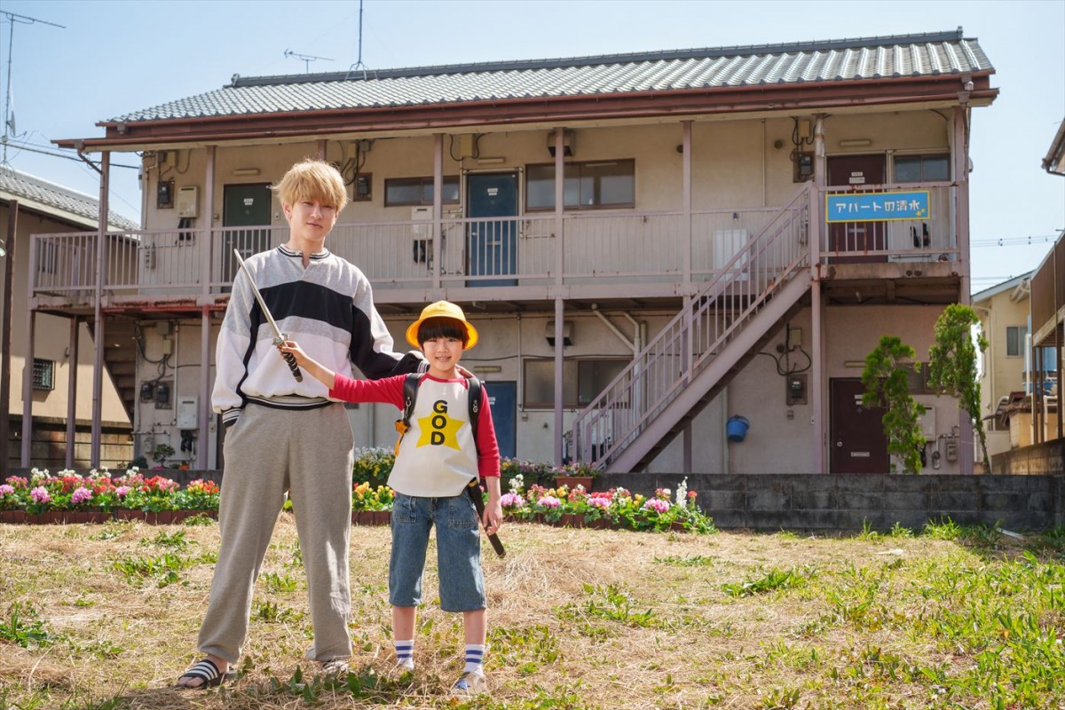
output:
<instances>
[{"instance_id":1,"label":"man's grey and white sweatshirt with black chest band","mask_svg":"<svg viewBox=\"0 0 1065 710\"><path fill-rule=\"evenodd\" d=\"M299 252L280 246L249 257L245 265L281 332L325 367L350 376L354 362L370 378L424 369L420 352L392 350L392 335L374 308L370 281L354 264L323 250L311 254L304 268ZM215 365L211 402L226 426L236 422L247 401L285 409L330 401L327 387L313 377L296 382L240 271L218 333Z\"/></svg>"}]
</instances>

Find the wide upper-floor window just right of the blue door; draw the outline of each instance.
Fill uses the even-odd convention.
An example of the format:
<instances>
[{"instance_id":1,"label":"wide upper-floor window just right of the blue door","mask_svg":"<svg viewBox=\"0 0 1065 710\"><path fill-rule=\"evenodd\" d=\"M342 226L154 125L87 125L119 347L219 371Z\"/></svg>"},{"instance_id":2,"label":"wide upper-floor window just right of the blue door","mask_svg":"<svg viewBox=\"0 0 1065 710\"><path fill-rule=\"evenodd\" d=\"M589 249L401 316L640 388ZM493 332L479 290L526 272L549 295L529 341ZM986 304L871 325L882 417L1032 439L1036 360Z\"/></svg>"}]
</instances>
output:
<instances>
[{"instance_id":1,"label":"wide upper-floor window just right of the blue door","mask_svg":"<svg viewBox=\"0 0 1065 710\"><path fill-rule=\"evenodd\" d=\"M555 209L555 164L525 167L525 209ZM568 163L562 178L567 210L603 210L636 205L636 161Z\"/></svg>"}]
</instances>

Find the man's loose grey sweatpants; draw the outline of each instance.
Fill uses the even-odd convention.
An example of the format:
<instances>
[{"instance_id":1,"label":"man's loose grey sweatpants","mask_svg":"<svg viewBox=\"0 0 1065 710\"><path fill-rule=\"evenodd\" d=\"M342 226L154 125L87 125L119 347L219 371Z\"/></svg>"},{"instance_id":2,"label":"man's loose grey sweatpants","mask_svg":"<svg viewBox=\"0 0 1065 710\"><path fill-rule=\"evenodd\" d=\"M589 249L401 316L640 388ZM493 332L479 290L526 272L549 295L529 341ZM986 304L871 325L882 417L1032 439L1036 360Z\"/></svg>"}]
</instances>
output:
<instances>
[{"instance_id":1,"label":"man's loose grey sweatpants","mask_svg":"<svg viewBox=\"0 0 1065 710\"><path fill-rule=\"evenodd\" d=\"M283 410L249 403L226 434L218 524L222 546L199 648L235 663L248 633L251 591L290 491L307 572L316 661L351 655L347 620L354 437L343 404Z\"/></svg>"}]
</instances>

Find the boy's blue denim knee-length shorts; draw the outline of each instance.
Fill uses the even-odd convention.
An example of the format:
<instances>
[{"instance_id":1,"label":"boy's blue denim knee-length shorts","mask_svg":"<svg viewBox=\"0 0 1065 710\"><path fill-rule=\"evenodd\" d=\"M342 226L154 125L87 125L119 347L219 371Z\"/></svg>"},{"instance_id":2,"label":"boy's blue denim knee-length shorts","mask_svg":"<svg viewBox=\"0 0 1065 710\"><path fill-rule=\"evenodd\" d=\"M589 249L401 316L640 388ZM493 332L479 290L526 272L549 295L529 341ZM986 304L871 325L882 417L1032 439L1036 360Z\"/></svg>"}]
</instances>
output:
<instances>
[{"instance_id":1,"label":"boy's blue denim knee-length shorts","mask_svg":"<svg viewBox=\"0 0 1065 710\"><path fill-rule=\"evenodd\" d=\"M485 608L485 574L480 568L477 511L465 493L449 498L422 498L396 493L392 503L392 557L389 604L422 604L422 573L429 528L437 526L440 608L449 612Z\"/></svg>"}]
</instances>

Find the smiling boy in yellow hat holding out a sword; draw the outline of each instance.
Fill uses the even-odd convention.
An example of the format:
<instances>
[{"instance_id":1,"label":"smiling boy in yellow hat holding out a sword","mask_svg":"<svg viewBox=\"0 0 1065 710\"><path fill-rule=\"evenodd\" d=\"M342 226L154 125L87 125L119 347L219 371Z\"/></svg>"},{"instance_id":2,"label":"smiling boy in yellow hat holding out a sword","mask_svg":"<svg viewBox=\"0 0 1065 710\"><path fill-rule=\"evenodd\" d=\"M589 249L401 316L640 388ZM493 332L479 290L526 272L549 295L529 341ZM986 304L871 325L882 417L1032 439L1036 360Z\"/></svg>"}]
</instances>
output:
<instances>
[{"instance_id":1,"label":"smiling boy in yellow hat holding out a sword","mask_svg":"<svg viewBox=\"0 0 1065 710\"><path fill-rule=\"evenodd\" d=\"M407 329L407 342L420 347L429 370L419 382L410 430L396 453L389 485L392 506L392 556L389 602L396 647L396 668L414 668L414 621L422 602L422 573L429 528L437 526L440 606L461 612L465 628L465 668L452 687L457 696L487 691L484 654L487 632L485 576L480 568L480 533L466 484L479 475L488 488L484 524L492 534L503 523L499 502L499 448L492 427L488 395L481 389L477 431L469 426L469 385L458 371L462 351L477 344L477 330L462 309L437 301ZM329 387L331 398L391 402L404 409L406 376L376 382L334 374L289 341L279 346L295 356L308 375ZM478 491L475 495L480 495Z\"/></svg>"}]
</instances>

